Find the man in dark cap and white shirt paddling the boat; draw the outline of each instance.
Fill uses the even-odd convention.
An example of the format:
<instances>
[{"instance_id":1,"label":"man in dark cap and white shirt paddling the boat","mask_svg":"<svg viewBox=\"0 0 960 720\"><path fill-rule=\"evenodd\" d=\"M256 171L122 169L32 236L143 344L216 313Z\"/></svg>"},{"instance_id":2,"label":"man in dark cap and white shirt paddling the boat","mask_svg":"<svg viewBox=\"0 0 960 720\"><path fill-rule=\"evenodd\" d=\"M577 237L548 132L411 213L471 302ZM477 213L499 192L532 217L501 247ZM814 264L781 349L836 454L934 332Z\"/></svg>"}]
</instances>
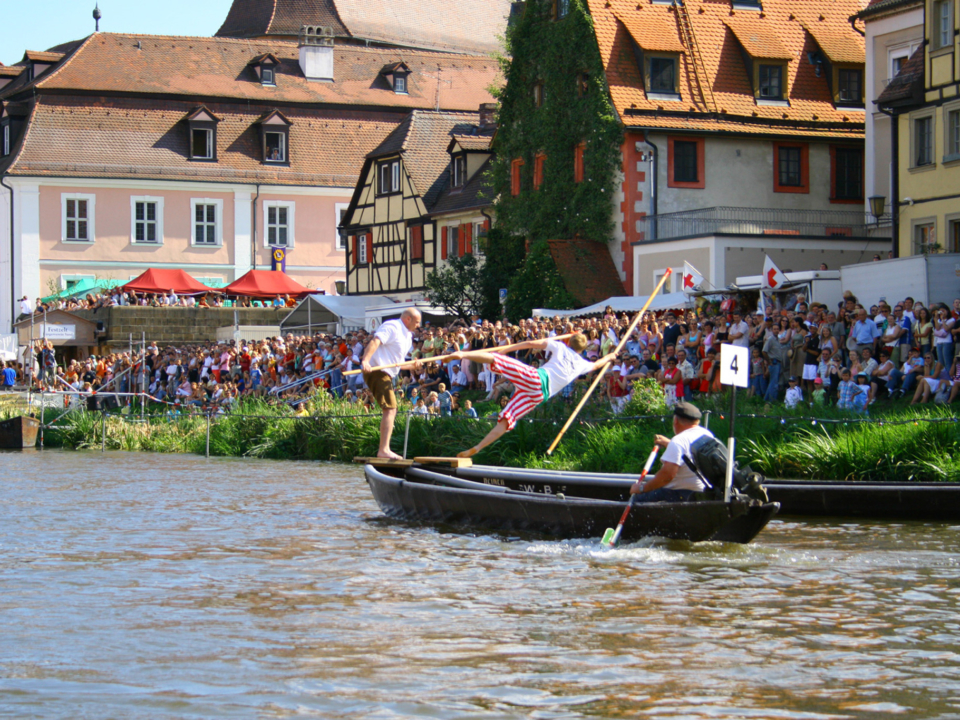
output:
<instances>
[{"instance_id":1,"label":"man in dark cap and white shirt paddling the boat","mask_svg":"<svg viewBox=\"0 0 960 720\"><path fill-rule=\"evenodd\" d=\"M661 457L662 466L650 480L634 483L630 493L637 495L633 502L682 502L695 492L706 490L703 482L691 470L684 457L694 457L693 444L702 437L713 437L706 428L700 427L700 410L686 401L673 406L673 439L663 435L653 442L666 448Z\"/></svg>"}]
</instances>

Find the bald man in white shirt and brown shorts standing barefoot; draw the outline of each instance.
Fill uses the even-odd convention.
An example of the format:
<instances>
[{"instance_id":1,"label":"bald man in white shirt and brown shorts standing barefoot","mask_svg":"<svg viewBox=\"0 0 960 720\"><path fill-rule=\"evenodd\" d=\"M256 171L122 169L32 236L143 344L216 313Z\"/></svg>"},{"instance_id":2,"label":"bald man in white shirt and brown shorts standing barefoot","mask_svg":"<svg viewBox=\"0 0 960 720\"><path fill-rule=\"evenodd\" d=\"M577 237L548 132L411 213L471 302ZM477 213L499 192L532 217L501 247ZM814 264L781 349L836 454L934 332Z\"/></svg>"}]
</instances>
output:
<instances>
[{"instance_id":1,"label":"bald man in white shirt and brown shorts standing barefoot","mask_svg":"<svg viewBox=\"0 0 960 720\"><path fill-rule=\"evenodd\" d=\"M393 379L399 372L398 367L374 370L381 365L399 365L406 360L413 347L413 332L420 326L420 311L407 308L397 320L387 320L377 329L367 344L360 367L363 369L363 381L374 400L383 411L380 419L380 447L377 457L399 460L400 456L390 449L393 436L393 421L397 417L397 396L393 392Z\"/></svg>"}]
</instances>

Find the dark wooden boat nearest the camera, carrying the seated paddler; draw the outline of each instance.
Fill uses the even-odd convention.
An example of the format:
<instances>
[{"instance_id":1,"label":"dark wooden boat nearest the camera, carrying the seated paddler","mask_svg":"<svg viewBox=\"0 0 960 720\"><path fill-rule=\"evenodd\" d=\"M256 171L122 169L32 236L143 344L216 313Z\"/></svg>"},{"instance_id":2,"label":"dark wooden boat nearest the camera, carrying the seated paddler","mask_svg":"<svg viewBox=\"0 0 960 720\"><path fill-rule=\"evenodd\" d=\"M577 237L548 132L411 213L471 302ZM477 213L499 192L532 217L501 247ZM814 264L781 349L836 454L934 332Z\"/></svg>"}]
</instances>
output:
<instances>
[{"instance_id":1,"label":"dark wooden boat nearest the camera, carrying the seated paddler","mask_svg":"<svg viewBox=\"0 0 960 720\"><path fill-rule=\"evenodd\" d=\"M557 473L489 466L364 466L383 512L403 520L599 538L615 527L636 480L628 475ZM626 541L644 537L748 543L776 515L776 503L738 497L639 503L624 525Z\"/></svg>"}]
</instances>

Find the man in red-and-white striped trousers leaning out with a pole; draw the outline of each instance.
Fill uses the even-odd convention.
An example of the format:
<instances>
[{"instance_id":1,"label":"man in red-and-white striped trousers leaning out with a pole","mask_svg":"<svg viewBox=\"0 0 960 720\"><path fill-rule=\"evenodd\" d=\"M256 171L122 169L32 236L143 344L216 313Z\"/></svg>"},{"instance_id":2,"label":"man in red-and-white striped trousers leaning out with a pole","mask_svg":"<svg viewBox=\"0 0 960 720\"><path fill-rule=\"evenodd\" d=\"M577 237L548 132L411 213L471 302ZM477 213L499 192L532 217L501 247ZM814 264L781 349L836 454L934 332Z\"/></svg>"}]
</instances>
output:
<instances>
[{"instance_id":1,"label":"man in red-and-white striped trousers leaning out with a pole","mask_svg":"<svg viewBox=\"0 0 960 720\"><path fill-rule=\"evenodd\" d=\"M514 360L512 357L500 355L497 348L474 352L457 352L451 355L451 359L489 364L495 372L503 375L516 387L510 402L497 416L497 424L493 429L476 446L464 450L457 457L473 457L487 445L499 440L505 432L513 430L517 425L517 420L531 412L540 403L558 395L575 378L599 370L616 359L616 356L610 353L596 362L584 360L579 353L582 353L586 347L587 336L583 333L577 333L565 341L548 338L545 340L528 340L519 345L510 346L508 352L520 352L529 349L546 353L547 362L539 368L532 368L519 360Z\"/></svg>"}]
</instances>

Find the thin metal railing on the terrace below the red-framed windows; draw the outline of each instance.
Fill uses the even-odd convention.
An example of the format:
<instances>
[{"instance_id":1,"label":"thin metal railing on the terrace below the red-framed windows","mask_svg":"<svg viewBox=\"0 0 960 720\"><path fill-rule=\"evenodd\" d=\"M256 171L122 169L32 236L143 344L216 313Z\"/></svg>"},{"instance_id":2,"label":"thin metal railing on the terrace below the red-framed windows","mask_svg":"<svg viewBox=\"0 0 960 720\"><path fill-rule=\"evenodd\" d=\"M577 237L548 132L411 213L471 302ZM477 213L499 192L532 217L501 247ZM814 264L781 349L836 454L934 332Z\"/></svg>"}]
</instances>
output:
<instances>
[{"instance_id":1,"label":"thin metal railing on the terrace below the red-framed windows","mask_svg":"<svg viewBox=\"0 0 960 720\"><path fill-rule=\"evenodd\" d=\"M875 237L889 228L890 216L880 223L864 210L787 210L777 208L711 207L649 215L637 220L644 240L700 235L802 235L824 238Z\"/></svg>"}]
</instances>

